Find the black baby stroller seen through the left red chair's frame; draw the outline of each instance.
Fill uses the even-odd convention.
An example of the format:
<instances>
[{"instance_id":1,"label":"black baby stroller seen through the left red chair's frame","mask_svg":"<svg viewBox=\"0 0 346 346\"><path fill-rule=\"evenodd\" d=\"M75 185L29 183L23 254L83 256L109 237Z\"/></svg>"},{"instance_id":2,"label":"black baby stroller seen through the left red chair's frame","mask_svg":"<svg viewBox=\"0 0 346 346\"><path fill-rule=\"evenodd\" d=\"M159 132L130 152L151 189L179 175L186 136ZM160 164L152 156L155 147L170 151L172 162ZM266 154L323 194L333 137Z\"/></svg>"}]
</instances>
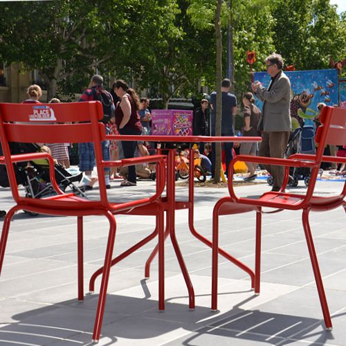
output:
<instances>
[{"instance_id":1,"label":"black baby stroller seen through the left red chair's frame","mask_svg":"<svg viewBox=\"0 0 346 346\"><path fill-rule=\"evenodd\" d=\"M25 154L37 152L39 146L33 143L10 143L10 150L11 154ZM49 178L49 165L45 159L30 161L29 163L16 163L14 167L17 184L23 185L26 197L41 198L57 194ZM59 164L54 165L54 172L60 190L66 191L70 188L75 194L86 198L84 191L78 187L78 183L83 178L82 172L70 174ZM0 165L0 185L3 188L10 185L5 165ZM32 212L26 211L26 213L36 215Z\"/></svg>"}]
</instances>

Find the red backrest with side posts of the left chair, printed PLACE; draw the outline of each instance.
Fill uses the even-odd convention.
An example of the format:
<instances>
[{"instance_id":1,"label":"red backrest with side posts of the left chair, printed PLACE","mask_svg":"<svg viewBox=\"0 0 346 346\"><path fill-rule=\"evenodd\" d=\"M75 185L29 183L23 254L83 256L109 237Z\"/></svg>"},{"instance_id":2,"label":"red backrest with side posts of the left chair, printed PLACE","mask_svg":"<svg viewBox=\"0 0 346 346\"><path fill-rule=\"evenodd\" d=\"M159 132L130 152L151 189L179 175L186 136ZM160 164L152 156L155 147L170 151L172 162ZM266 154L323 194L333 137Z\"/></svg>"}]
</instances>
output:
<instances>
[{"instance_id":1,"label":"red backrest with side posts of the left chair, printed PLACE","mask_svg":"<svg viewBox=\"0 0 346 346\"><path fill-rule=\"evenodd\" d=\"M100 196L106 201L107 192L104 185L101 150L101 141L104 140L106 134L104 125L100 122L102 118L102 105L96 101L49 104L0 103L1 146L15 201L18 202L20 197L8 145L10 142L93 142L100 179Z\"/></svg>"}]
</instances>

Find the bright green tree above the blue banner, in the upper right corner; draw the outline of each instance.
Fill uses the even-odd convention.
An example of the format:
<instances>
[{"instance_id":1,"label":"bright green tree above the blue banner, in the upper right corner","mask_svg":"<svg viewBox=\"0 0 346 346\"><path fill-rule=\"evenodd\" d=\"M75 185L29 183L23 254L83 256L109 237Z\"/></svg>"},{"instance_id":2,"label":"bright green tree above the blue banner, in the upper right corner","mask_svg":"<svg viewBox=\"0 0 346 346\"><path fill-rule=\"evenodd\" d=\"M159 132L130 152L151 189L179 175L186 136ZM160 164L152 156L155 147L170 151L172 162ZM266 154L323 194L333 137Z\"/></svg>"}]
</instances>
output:
<instances>
[{"instance_id":1,"label":"bright green tree above the blue banner, in the upper right corner","mask_svg":"<svg viewBox=\"0 0 346 346\"><path fill-rule=\"evenodd\" d=\"M345 57L345 18L329 0L280 0L273 17L274 44L286 64L297 70L328 69L330 57Z\"/></svg>"}]
</instances>

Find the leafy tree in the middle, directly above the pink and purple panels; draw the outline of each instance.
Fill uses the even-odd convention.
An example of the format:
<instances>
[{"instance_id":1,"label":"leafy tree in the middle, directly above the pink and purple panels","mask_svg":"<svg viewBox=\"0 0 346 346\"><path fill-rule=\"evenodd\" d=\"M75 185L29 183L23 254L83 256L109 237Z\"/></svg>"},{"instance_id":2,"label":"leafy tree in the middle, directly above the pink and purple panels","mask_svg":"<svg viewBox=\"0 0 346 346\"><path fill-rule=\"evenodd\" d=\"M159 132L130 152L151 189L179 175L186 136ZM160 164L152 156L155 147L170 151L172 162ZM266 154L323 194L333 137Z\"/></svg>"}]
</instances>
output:
<instances>
[{"instance_id":1,"label":"leafy tree in the middle, directly above the pink and purple panels","mask_svg":"<svg viewBox=\"0 0 346 346\"><path fill-rule=\"evenodd\" d=\"M143 54L137 54L132 64L138 86L150 86L150 95L161 96L165 108L173 95L194 93L199 80L212 71L212 30L192 26L188 2L170 0L165 7L156 8L150 19L155 23L152 31L145 33L147 37L142 35Z\"/></svg>"}]
</instances>

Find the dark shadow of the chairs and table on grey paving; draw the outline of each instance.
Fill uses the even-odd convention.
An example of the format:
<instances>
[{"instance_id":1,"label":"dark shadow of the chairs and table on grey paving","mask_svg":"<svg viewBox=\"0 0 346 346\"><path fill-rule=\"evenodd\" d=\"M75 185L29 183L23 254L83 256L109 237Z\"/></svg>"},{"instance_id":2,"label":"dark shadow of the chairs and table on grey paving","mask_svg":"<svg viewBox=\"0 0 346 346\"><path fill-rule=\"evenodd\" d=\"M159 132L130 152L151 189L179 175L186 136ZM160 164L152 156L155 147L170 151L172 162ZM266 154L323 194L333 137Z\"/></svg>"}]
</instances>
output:
<instances>
[{"instance_id":1,"label":"dark shadow of the chairs and table on grey paving","mask_svg":"<svg viewBox=\"0 0 346 346\"><path fill-rule=\"evenodd\" d=\"M212 338L220 336L232 338L235 345L237 340L239 343L242 340L242 345L245 345L246 340L268 343L268 345L285 345L293 342L290 339L293 336L295 340L309 336L316 337L315 342L322 345L333 338L331 332L325 329L316 331L321 320L268 313L258 309L242 309L242 305L253 300L255 295L242 300L229 311L221 314L215 314L209 307L202 306L189 311L187 304L173 302L173 300L188 297L174 297L165 301L165 312L160 313L157 301L149 299L151 293L145 280L142 280L141 284L143 298L107 295L100 337L101 345L113 345L120 339L133 340L134 345L139 343L144 345L149 342L149 339L167 335L178 329L191 333L186 335L182 332L179 336L176 332L172 334L172 340L176 345L180 341L180 345L189 346L204 344L202 340L217 342L218 338ZM237 291L221 294L236 295L244 292L250 293L250 291ZM19 345L21 343L22 345L56 346L91 345L97 303L98 295L87 294L82 303L76 299L66 300L17 313L12 316L12 319L18 322L0 325L0 340L3 343L7 341L9 344ZM222 343L223 339L220 340Z\"/></svg>"}]
</instances>

